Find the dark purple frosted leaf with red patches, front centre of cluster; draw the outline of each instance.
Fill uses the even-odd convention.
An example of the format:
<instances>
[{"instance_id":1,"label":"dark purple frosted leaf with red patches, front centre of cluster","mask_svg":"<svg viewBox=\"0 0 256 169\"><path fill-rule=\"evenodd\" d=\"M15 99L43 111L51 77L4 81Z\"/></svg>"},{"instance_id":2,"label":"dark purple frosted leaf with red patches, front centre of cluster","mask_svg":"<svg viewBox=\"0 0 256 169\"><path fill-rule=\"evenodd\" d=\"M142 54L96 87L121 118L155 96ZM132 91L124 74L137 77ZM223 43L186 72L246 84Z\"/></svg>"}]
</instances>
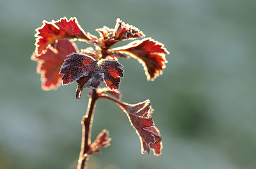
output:
<instances>
[{"instance_id":1,"label":"dark purple frosted leaf with red patches, front centre of cluster","mask_svg":"<svg viewBox=\"0 0 256 169\"><path fill-rule=\"evenodd\" d=\"M92 54L90 54L92 55ZM118 89L120 77L124 77L118 61L95 60L89 54L70 54L61 66L62 84L70 84L77 80L76 98L79 99L84 88L92 86L97 89L104 80L109 89Z\"/></svg>"}]
</instances>

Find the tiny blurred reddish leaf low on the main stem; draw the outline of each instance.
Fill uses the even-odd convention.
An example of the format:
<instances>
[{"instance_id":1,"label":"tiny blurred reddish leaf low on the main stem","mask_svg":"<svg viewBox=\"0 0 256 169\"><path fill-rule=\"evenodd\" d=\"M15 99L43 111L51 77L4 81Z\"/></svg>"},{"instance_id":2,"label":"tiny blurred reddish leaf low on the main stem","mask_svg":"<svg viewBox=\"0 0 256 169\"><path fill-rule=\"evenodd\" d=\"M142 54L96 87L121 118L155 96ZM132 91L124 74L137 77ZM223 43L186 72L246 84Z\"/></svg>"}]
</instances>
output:
<instances>
[{"instance_id":1,"label":"tiny blurred reddish leaf low on the main stem","mask_svg":"<svg viewBox=\"0 0 256 169\"><path fill-rule=\"evenodd\" d=\"M106 129L103 129L101 133L97 136L94 142L90 145L86 154L92 155L93 152L100 152L101 147L108 147L110 145L111 138L108 137L109 132Z\"/></svg>"}]
</instances>

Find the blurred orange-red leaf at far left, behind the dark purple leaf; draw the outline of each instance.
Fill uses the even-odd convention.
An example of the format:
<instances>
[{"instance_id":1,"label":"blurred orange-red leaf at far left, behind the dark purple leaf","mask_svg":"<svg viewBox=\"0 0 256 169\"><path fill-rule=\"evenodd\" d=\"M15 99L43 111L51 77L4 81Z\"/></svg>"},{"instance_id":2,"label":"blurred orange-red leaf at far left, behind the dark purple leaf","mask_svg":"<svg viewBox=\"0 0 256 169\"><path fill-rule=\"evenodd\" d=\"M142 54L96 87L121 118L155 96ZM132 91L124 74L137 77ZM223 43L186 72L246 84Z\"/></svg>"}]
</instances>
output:
<instances>
[{"instance_id":1,"label":"blurred orange-red leaf at far left, behind the dark purple leaf","mask_svg":"<svg viewBox=\"0 0 256 169\"><path fill-rule=\"evenodd\" d=\"M61 64L67 55L78 52L76 44L69 40L58 40L56 47L47 48L45 54L31 56L33 61L38 61L37 73L41 74L42 89L49 91L57 89L61 84L62 75L59 74Z\"/></svg>"}]
</instances>

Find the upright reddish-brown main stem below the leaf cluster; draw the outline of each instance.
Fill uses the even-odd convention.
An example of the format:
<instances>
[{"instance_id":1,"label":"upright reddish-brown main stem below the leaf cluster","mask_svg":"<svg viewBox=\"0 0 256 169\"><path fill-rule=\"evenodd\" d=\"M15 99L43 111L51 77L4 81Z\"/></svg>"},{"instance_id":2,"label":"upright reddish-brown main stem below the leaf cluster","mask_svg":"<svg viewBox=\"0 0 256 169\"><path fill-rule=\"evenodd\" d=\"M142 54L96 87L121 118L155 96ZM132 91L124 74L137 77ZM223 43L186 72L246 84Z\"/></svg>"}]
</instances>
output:
<instances>
[{"instance_id":1,"label":"upright reddish-brown main stem below the leaf cluster","mask_svg":"<svg viewBox=\"0 0 256 169\"><path fill-rule=\"evenodd\" d=\"M81 124L83 125L82 141L81 141L81 151L79 154L77 169L85 169L88 161L88 154L86 152L90 148L91 144L91 133L92 133L92 122L93 122L93 112L98 99L98 94L95 89L92 89L90 93L90 98L88 101L88 108L86 115L83 116Z\"/></svg>"}]
</instances>

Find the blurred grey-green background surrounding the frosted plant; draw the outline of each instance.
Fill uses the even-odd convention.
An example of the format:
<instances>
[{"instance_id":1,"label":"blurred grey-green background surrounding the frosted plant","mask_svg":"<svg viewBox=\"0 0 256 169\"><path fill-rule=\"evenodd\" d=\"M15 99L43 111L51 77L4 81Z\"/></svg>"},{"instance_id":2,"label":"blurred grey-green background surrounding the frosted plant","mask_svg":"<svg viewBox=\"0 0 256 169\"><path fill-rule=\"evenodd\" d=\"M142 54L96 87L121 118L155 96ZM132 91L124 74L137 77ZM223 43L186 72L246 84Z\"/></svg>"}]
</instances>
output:
<instances>
[{"instance_id":1,"label":"blurred grey-green background surrounding the frosted plant","mask_svg":"<svg viewBox=\"0 0 256 169\"><path fill-rule=\"evenodd\" d=\"M100 99L92 138L106 128L113 140L90 169L256 168L255 9L253 0L0 1L0 168L76 168L88 91L80 101L75 83L42 91L30 60L35 29L64 16L95 35L120 17L170 51L154 82L138 61L120 60L122 100L151 100L163 154L142 155L124 112Z\"/></svg>"}]
</instances>

